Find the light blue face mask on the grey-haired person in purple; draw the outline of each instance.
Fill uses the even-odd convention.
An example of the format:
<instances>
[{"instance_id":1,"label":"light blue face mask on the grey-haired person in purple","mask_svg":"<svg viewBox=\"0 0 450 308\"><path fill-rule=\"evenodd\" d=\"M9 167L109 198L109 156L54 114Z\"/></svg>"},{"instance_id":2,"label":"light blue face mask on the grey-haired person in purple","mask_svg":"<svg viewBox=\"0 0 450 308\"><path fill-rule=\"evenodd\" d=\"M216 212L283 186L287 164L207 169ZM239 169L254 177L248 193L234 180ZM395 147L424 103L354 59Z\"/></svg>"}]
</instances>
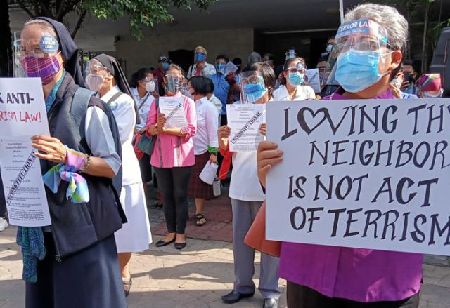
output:
<instances>
[{"instance_id":1,"label":"light blue face mask on the grey-haired person in purple","mask_svg":"<svg viewBox=\"0 0 450 308\"><path fill-rule=\"evenodd\" d=\"M381 56L379 51L356 51L354 49L342 53L336 62L336 81L347 92L363 91L385 76L378 72L378 62Z\"/></svg>"}]
</instances>

